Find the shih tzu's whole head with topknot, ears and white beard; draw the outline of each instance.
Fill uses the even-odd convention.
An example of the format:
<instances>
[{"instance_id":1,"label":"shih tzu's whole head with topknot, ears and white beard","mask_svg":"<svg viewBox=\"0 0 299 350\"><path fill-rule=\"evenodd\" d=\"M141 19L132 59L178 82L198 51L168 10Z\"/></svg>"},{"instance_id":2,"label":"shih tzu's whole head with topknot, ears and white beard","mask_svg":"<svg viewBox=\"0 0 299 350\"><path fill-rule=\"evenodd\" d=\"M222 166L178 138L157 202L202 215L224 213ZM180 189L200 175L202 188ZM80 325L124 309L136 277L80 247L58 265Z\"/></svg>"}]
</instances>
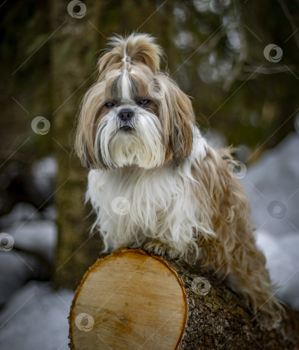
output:
<instances>
[{"instance_id":1,"label":"shih tzu's whole head with topknot, ears and white beard","mask_svg":"<svg viewBox=\"0 0 299 350\"><path fill-rule=\"evenodd\" d=\"M85 166L178 164L190 154L191 101L159 70L161 49L146 34L114 37L98 81L83 98L76 150Z\"/></svg>"}]
</instances>

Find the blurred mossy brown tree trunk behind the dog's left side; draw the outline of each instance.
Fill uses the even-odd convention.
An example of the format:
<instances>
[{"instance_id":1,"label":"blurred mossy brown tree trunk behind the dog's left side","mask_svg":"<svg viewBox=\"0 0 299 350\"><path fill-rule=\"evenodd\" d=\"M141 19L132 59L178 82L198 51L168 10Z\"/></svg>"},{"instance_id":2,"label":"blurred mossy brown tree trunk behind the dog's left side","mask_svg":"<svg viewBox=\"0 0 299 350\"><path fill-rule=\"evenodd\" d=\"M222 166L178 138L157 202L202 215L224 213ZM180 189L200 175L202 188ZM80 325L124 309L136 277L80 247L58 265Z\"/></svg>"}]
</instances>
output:
<instances>
[{"instance_id":1,"label":"blurred mossy brown tree trunk behind the dog's left side","mask_svg":"<svg viewBox=\"0 0 299 350\"><path fill-rule=\"evenodd\" d=\"M97 19L102 1L94 2L98 10L91 12ZM64 1L51 1L51 24L52 32L60 26L51 45L59 229L54 281L56 285L75 289L101 249L99 234L89 236L91 208L84 207L87 170L81 167L72 150L79 99L96 77L95 57L90 52L98 49L98 33L86 18L73 18Z\"/></svg>"}]
</instances>

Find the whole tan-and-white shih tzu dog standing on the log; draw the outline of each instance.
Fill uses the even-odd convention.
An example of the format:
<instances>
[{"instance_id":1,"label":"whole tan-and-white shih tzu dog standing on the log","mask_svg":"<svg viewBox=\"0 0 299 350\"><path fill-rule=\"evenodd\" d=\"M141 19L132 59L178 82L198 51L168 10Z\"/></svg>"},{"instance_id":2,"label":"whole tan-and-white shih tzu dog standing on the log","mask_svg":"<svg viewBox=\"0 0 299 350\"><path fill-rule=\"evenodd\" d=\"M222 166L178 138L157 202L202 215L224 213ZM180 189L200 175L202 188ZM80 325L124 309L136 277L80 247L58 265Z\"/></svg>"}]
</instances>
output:
<instances>
[{"instance_id":1,"label":"whole tan-and-white shih tzu dog standing on the log","mask_svg":"<svg viewBox=\"0 0 299 350\"><path fill-rule=\"evenodd\" d=\"M82 99L75 146L91 168L87 199L105 251L143 247L200 262L252 310L276 313L237 163L201 135L190 98L160 70L162 55L151 35L112 37Z\"/></svg>"}]
</instances>

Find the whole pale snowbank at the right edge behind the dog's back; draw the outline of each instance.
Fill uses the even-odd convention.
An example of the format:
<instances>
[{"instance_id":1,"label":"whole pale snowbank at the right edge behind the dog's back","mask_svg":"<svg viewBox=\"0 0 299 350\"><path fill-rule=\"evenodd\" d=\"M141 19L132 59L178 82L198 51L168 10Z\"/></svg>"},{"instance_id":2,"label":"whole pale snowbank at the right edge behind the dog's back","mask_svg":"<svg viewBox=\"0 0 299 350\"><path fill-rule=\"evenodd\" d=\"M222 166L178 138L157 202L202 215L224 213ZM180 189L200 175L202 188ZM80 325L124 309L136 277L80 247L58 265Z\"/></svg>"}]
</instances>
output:
<instances>
[{"instance_id":1,"label":"whole pale snowbank at the right edge behind the dog's back","mask_svg":"<svg viewBox=\"0 0 299 350\"><path fill-rule=\"evenodd\" d=\"M277 295L299 310L299 135L267 150L242 181Z\"/></svg>"}]
</instances>

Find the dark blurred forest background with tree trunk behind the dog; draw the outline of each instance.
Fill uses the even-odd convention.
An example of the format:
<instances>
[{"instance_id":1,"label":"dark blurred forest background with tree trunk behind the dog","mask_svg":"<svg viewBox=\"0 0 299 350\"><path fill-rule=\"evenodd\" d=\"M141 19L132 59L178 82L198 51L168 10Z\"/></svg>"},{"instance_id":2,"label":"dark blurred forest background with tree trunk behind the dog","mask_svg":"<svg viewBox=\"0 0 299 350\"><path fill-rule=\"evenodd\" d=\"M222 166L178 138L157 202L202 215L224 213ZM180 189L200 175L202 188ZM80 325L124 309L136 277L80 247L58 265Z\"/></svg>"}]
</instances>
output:
<instances>
[{"instance_id":1,"label":"dark blurred forest background with tree trunk behind the dog","mask_svg":"<svg viewBox=\"0 0 299 350\"><path fill-rule=\"evenodd\" d=\"M88 236L87 170L72 153L74 121L107 37L132 30L157 37L168 57L163 68L193 97L201 129L239 146L249 163L299 128L299 1L71 2L0 6L0 215L26 202L46 216L55 202L58 249L48 274L75 288L100 239ZM269 44L282 51L264 54ZM36 122L34 131L36 116L49 123Z\"/></svg>"}]
</instances>

